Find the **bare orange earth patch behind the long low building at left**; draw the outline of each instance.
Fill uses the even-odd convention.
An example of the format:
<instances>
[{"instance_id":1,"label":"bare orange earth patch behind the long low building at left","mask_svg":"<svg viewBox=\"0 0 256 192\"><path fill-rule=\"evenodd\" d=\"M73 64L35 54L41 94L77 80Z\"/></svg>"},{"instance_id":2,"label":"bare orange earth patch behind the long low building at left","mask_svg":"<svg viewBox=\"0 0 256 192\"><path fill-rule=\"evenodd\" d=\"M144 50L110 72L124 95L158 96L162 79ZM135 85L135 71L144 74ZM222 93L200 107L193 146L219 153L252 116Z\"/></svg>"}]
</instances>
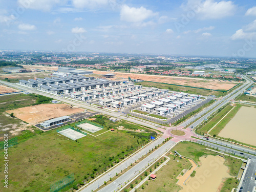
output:
<instances>
[{"instance_id":1,"label":"bare orange earth patch behind the long low building at left","mask_svg":"<svg viewBox=\"0 0 256 192\"><path fill-rule=\"evenodd\" d=\"M52 118L57 118L73 113L82 112L82 109L71 108L67 104L39 104L26 106L15 110L6 111L14 113L14 116L28 123L36 124Z\"/></svg>"}]
</instances>

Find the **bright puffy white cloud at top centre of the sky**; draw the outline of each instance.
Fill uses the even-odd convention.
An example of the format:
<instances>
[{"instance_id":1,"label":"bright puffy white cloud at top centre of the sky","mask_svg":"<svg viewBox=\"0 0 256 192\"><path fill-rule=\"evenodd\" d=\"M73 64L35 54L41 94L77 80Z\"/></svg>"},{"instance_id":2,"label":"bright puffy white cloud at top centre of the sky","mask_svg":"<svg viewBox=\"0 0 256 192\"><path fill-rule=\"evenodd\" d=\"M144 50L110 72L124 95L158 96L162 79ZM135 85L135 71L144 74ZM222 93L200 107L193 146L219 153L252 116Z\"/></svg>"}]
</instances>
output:
<instances>
[{"instance_id":1,"label":"bright puffy white cloud at top centre of the sky","mask_svg":"<svg viewBox=\"0 0 256 192\"><path fill-rule=\"evenodd\" d=\"M139 23L157 14L158 13L154 13L152 10L148 10L144 7L135 8L123 5L120 11L120 19L125 22Z\"/></svg>"}]
</instances>

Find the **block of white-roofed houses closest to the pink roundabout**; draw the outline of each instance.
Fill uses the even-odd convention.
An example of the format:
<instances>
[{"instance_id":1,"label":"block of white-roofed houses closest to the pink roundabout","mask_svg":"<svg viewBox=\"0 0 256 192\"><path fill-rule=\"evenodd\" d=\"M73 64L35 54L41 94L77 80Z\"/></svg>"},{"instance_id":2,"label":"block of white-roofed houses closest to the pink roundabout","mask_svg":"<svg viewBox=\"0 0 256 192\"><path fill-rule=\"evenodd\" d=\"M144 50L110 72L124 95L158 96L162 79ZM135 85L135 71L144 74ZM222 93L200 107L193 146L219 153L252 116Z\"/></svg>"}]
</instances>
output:
<instances>
[{"instance_id":1,"label":"block of white-roofed houses closest to the pink roundabout","mask_svg":"<svg viewBox=\"0 0 256 192\"><path fill-rule=\"evenodd\" d=\"M156 112L158 115L166 116L183 107L190 107L196 104L199 102L200 97L201 95L188 96L187 93L179 92L151 101L150 103L144 103L141 105L141 110L148 113Z\"/></svg>"}]
</instances>

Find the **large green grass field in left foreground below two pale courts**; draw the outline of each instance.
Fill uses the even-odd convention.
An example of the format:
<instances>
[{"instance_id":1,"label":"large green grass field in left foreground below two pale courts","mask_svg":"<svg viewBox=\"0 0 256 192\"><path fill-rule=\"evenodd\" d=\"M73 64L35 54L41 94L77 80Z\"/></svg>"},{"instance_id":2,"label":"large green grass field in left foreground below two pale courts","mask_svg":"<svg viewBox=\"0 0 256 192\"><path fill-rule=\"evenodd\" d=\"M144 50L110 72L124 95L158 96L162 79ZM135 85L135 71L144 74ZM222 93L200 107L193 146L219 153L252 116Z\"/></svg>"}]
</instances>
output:
<instances>
[{"instance_id":1,"label":"large green grass field in left foreground below two pale courts","mask_svg":"<svg viewBox=\"0 0 256 192\"><path fill-rule=\"evenodd\" d=\"M8 157L12 159L9 188L3 191L49 191L51 184L72 173L76 182L84 180L84 176L96 176L100 169L109 168L113 161L147 142L150 137L143 137L145 134L148 133L116 130L98 137L87 135L76 142L53 130L19 140L8 150ZM1 161L3 154L4 151Z\"/></svg>"}]
</instances>

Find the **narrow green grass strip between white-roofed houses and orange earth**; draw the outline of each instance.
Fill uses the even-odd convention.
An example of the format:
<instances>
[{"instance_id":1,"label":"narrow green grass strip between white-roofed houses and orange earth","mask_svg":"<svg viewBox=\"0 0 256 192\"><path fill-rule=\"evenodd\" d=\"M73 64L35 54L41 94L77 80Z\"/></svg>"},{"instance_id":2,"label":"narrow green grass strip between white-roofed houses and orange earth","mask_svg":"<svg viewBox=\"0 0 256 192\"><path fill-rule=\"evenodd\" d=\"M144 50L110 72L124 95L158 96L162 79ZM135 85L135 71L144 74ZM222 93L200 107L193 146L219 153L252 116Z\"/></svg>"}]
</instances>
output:
<instances>
[{"instance_id":1,"label":"narrow green grass strip between white-roofed houses and orange earth","mask_svg":"<svg viewBox=\"0 0 256 192\"><path fill-rule=\"evenodd\" d=\"M148 82L143 81L136 84L141 84L144 87L156 87L159 89L168 89L171 91L181 91L190 94L197 94L197 95L215 95L220 97L222 95L226 95L226 92L219 92L219 91L211 91L211 90L203 90L203 89L196 89L196 88L186 88L181 86L172 86L170 84L163 84L163 83L155 83L155 82Z\"/></svg>"}]
</instances>

